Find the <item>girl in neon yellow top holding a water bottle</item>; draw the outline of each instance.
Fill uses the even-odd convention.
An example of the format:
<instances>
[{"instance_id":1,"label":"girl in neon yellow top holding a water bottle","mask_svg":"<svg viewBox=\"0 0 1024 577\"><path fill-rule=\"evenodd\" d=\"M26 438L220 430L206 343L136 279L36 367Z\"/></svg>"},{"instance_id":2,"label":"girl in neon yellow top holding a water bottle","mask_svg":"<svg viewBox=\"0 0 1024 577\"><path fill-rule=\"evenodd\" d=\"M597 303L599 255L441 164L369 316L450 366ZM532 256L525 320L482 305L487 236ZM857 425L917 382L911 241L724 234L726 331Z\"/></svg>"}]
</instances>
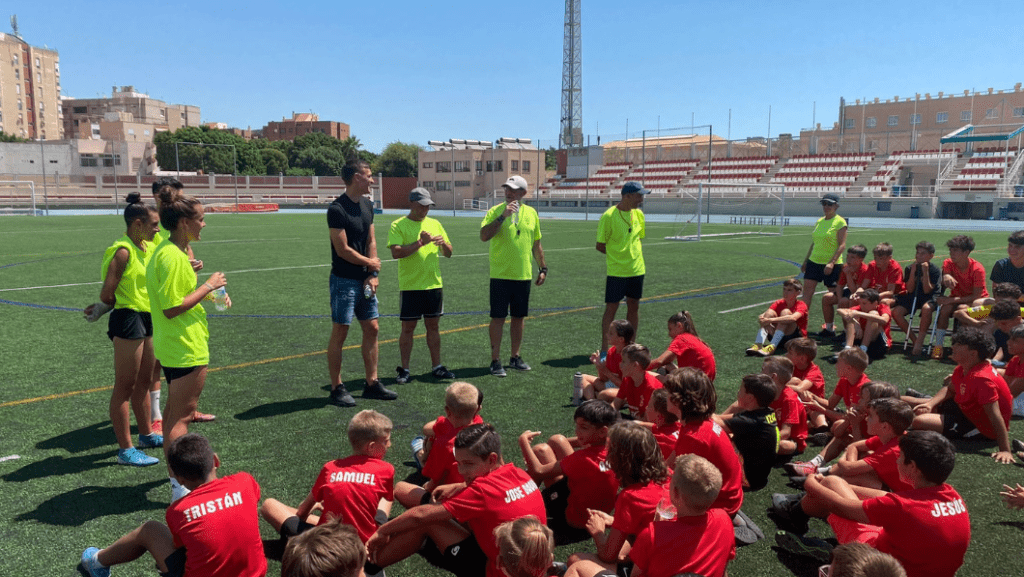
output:
<instances>
[{"instance_id":1,"label":"girl in neon yellow top holding a water bottle","mask_svg":"<svg viewBox=\"0 0 1024 577\"><path fill-rule=\"evenodd\" d=\"M203 205L172 187L160 190L160 222L170 232L154 250L146 269L146 288L153 310L154 351L163 366L170 389L164 414L164 452L188 423L206 384L210 362L206 311L200 301L227 284L223 273L214 273L197 287L187 248L206 226ZM230 305L230 299L228 299ZM172 499L183 488L171 479Z\"/></svg>"}]
</instances>

